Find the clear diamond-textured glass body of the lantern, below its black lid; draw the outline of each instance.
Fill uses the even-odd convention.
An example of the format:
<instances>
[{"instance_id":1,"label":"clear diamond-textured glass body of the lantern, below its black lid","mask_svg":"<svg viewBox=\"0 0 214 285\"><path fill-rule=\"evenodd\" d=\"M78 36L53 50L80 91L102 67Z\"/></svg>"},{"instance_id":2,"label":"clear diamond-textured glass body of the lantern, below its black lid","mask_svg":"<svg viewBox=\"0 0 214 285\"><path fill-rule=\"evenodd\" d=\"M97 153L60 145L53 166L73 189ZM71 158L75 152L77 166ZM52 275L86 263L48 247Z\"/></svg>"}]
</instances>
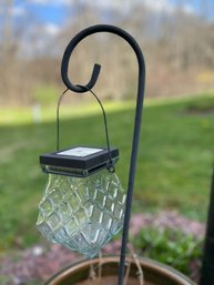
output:
<instances>
[{"instance_id":1,"label":"clear diamond-textured glass body of the lantern, below its black lid","mask_svg":"<svg viewBox=\"0 0 214 285\"><path fill-rule=\"evenodd\" d=\"M123 226L125 193L115 173L49 174L37 226L47 238L95 256Z\"/></svg>"}]
</instances>

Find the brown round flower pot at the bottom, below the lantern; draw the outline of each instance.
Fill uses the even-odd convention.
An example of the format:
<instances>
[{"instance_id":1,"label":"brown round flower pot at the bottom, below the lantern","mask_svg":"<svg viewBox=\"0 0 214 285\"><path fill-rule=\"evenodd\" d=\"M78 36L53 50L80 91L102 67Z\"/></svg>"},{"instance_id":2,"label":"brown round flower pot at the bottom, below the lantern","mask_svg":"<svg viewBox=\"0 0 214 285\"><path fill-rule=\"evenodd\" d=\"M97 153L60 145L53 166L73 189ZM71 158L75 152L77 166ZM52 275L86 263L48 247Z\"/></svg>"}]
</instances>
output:
<instances>
[{"instance_id":1,"label":"brown round flower pot at the bottom, below the lantern","mask_svg":"<svg viewBox=\"0 0 214 285\"><path fill-rule=\"evenodd\" d=\"M116 285L119 257L85 259L75 263L52 276L44 285ZM126 285L195 285L177 271L149 258L128 258L130 273ZM143 272L144 283L137 277L139 267ZM90 268L94 268L94 277L89 279ZM100 273L100 278L99 278Z\"/></svg>"}]
</instances>

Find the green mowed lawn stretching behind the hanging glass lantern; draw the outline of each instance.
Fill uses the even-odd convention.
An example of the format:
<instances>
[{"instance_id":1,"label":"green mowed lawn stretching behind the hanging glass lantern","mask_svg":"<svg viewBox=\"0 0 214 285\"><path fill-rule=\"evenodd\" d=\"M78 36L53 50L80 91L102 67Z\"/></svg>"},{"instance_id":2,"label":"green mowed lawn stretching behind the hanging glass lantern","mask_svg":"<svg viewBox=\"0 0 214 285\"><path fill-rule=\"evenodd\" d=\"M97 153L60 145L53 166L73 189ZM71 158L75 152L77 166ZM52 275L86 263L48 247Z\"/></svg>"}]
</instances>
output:
<instances>
[{"instance_id":1,"label":"green mowed lawn stretching behind the hanging glass lantern","mask_svg":"<svg viewBox=\"0 0 214 285\"><path fill-rule=\"evenodd\" d=\"M118 175L126 189L134 102L106 106L112 146L120 149ZM80 112L77 112L77 109ZM63 111L64 110L64 111ZM69 110L69 111L68 111ZM10 112L4 111L10 118ZM71 116L69 116L69 112ZM42 241L34 224L47 175L41 153L55 150L54 109L33 124L22 111L17 122L0 124L0 251ZM62 106L61 149L105 145L99 106ZM134 212L176 210L205 221L214 155L214 94L144 106L134 187Z\"/></svg>"}]
</instances>

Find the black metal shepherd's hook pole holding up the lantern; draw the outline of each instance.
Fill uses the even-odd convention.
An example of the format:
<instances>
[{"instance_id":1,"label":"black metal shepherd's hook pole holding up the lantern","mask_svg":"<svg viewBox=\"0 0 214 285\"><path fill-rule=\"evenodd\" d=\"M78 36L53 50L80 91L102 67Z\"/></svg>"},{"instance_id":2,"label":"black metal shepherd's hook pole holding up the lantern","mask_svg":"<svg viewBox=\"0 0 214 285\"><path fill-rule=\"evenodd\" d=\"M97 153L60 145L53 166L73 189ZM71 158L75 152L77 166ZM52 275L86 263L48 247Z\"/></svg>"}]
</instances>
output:
<instances>
[{"instance_id":1,"label":"black metal shepherd's hook pole holding up the lantern","mask_svg":"<svg viewBox=\"0 0 214 285\"><path fill-rule=\"evenodd\" d=\"M137 42L134 38L125 32L124 30L109 24L98 24L89 27L81 32L79 32L68 44L63 58L62 58L62 65L61 65L61 75L64 84L68 89L83 93L86 92L89 89L92 89L98 80L101 65L94 64L91 79L85 86L74 85L71 83L68 77L68 68L69 68L69 60L71 57L72 51L78 45L78 43L86 38L90 34L96 32L110 32L114 33L125 41L130 43L132 49L136 54L136 59L139 62L139 85L137 85L137 98L136 98L136 109L135 109L135 123L134 123L134 133L133 133L133 141L132 141L132 152L131 152L131 161L130 161L130 172L129 172L129 183L128 183L128 193L126 193L126 205L125 205L125 214L124 214L124 225L123 225L123 235L122 235L122 246L121 246L121 258L120 258L120 268L119 268L119 283L118 285L123 284L124 279L124 267L125 267L125 253L126 253L126 244L129 237L129 225L130 225L130 216L131 216L131 206L132 206L132 196L133 196L133 187L134 187L134 179L135 179L135 169L136 169L136 157L137 157L137 149L139 149L139 139L140 139L140 131L141 131L141 121L142 121L142 111L143 111L143 99L144 99L144 85L145 85L145 63L143 59L143 53L141 48L139 47Z\"/></svg>"}]
</instances>

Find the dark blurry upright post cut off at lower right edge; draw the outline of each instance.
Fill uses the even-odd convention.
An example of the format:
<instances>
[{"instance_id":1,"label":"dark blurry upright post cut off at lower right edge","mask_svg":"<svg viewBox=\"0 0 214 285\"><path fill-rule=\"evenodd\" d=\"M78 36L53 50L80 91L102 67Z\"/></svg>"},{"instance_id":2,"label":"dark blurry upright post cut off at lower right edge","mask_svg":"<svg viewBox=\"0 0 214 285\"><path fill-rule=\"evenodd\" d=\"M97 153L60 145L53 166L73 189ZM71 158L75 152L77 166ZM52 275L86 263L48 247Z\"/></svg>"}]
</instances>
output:
<instances>
[{"instance_id":1,"label":"dark blurry upright post cut off at lower right edge","mask_svg":"<svg viewBox=\"0 0 214 285\"><path fill-rule=\"evenodd\" d=\"M214 170L207 213L201 281L198 285L214 285Z\"/></svg>"}]
</instances>

